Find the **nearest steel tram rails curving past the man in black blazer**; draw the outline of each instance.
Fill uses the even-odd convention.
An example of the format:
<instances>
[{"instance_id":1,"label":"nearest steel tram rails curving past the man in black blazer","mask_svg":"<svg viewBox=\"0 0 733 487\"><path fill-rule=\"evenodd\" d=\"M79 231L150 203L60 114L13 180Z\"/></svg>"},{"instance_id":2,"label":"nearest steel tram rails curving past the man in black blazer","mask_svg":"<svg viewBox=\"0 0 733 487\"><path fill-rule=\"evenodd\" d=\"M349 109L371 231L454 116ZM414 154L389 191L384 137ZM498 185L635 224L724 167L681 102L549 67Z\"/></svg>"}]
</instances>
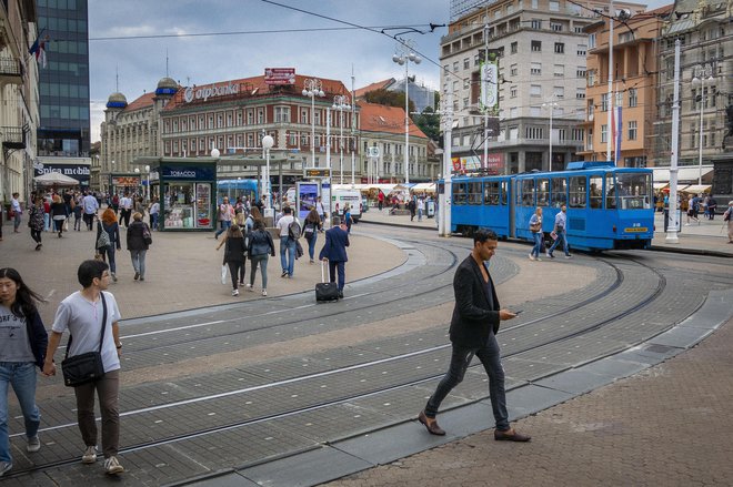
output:
<instances>
[{"instance_id":1,"label":"nearest steel tram rails curving past the man in black blazer","mask_svg":"<svg viewBox=\"0 0 733 487\"><path fill-rule=\"evenodd\" d=\"M546 321L549 321L553 317L556 317L558 315L568 314L568 313L571 313L572 311L575 311L575 310L581 310L584 306L588 306L589 304L591 304L591 303L593 303L593 302L595 302L595 301L598 301L602 297L610 296L615 290L617 290L622 285L623 277L624 277L623 272L622 272L621 268L619 268L619 266L614 265L613 263L611 263L606 260L602 260L602 258L598 258L598 260L600 262L603 262L605 265L610 265L614 268L615 274L616 274L616 278L612 283L612 285L608 286L605 290L603 290L603 292L601 292L601 293L599 293L599 294L596 294L596 295L594 295L590 298L583 300L582 302L574 303L571 306L566 306L561 311L558 311L558 312L554 312L554 313L534 318L530 322L525 322L525 323L521 323L521 324L518 324L518 325L514 325L514 326L503 328L500 332L500 335L504 334L504 333L512 332L512 331L518 331L520 328L528 327L528 326L531 326L533 324L539 324L539 323L542 323L542 322L546 322ZM664 288L666 287L666 281L665 281L663 275L655 272L654 270L646 266L645 264L643 264L641 262L636 262L636 264L642 265L642 266L651 270L659 277L656 287L644 300L641 300L640 302L634 303L632 306L630 306L627 308L624 308L623 311L620 311L619 313L614 314L611 317L606 317L605 319L602 319L600 322L590 324L589 326L586 326L583 329L574 331L574 332L569 333L569 334L566 334L562 337L555 337L554 339L552 339L550 342L545 342L545 343L536 345L536 346L529 346L529 347L523 347L521 349L512 351L510 354L505 355L504 358L510 358L512 356L516 356L519 354L523 354L523 353L530 352L532 349L539 349L539 348L541 348L543 346L548 346L550 344L558 344L558 343L561 343L563 341L570 341L570 339L573 339L575 337L582 336L584 334L592 333L593 331L602 328L604 325L606 325L609 323L612 323L612 322L619 319L622 316L631 315L634 312L636 312L636 311L643 308L644 306L649 305L650 303L652 303L654 300L656 300L660 296L661 293L663 293ZM444 271L444 272L446 272L446 271ZM360 363L360 364L352 365L352 366L349 366L349 367L334 368L334 369L328 371L325 373L295 376L295 377L291 377L287 381L269 383L269 384L263 384L263 385L255 386L255 387L249 387L249 388L232 390L232 392L228 393L227 396L242 395L242 394L247 394L247 393L250 393L250 392L253 392L253 390L263 390L263 389L267 389L267 388L290 386L290 385L293 385L293 384L305 383L305 382L312 381L314 378L320 379L320 378L323 378L323 377L333 376L333 375L338 375L338 374L347 374L347 373L351 373L353 371L359 371L359 369L365 369L368 367L373 367L376 364L382 365L382 364L386 364L386 363L396 363L399 361L404 361L406 358L413 358L413 357L416 357L416 356L420 356L420 355L425 355L425 354L433 353L433 352L436 352L436 351L440 351L440 349L443 349L443 348L448 348L448 347L450 347L450 344L443 344L443 345L439 345L439 346L433 346L433 347L428 347L428 348L419 349L419 351L415 351L415 352L411 352L409 354L401 354L401 355L391 356L391 357L380 359L380 361L369 361L369 362ZM478 365L474 365L472 367L475 367L475 366L478 366ZM273 412L269 415L260 415L260 416L251 418L251 419L233 422L233 423L230 423L230 424L219 425L219 426L214 426L214 427L210 427L210 428L199 428L195 432L188 432L188 433L182 433L182 434L179 434L179 435L172 435L172 436L169 436L167 438L161 438L161 439L151 440L151 442L147 442L147 443L138 443L138 444L134 444L134 445L129 445L129 446L125 446L124 448L122 448L120 453L125 454L125 453L138 452L138 450L141 450L141 449L154 448L154 447L158 447L158 446L169 445L169 444L177 443L177 442L183 442L183 440L200 437L200 436L203 436L203 435L215 434L218 432L227 432L227 430L243 428L243 427L260 424L260 423L272 422L272 420L277 420L277 419L284 418L284 417L290 417L290 416L295 416L298 414L303 414L303 413L307 413L307 412L322 409L322 408L327 408L327 407L341 405L341 404L363 399L363 398L366 398L366 397L380 395L380 394L394 392L394 390L398 390L398 389L403 389L403 388L406 388L406 387L414 387L416 385L424 384L424 383L438 379L440 377L442 377L442 373L441 374L431 374L431 375L428 375L428 376L418 377L418 378L412 379L412 381L406 381L406 382L403 382L403 383L400 383L400 384L396 384L396 385L390 385L388 387L380 387L380 388L372 388L372 389L363 390L359 394L350 394L350 395L345 395L343 397L337 397L337 398L333 398L333 399L330 399L330 400L324 400L324 402L321 402L321 403L318 403L318 404L308 404L308 405L304 405L304 406L299 406L299 407L287 409L287 410ZM223 395L219 395L219 397L223 397ZM482 400L483 398L485 398L485 396L480 398L480 399L476 399L476 400ZM211 400L211 399L212 398L202 397L202 398L198 398L197 400ZM155 407L154 410L162 410L162 409L165 409L165 408L171 409L171 408L182 406L183 404L191 404L191 402L181 402L179 404L160 405L160 407ZM147 408L147 412L150 412L150 410L152 410L152 409ZM137 414L141 414L141 412L142 412L142 409L139 410L139 412L131 410L131 412L123 413L123 416L129 417L129 416L133 416L133 415L137 415ZM57 428L70 427L70 426L73 426L73 424L59 425ZM342 438L340 438L340 439L342 439ZM49 463L46 463L46 464L40 464L40 465L33 466L32 468L29 468L29 469L26 469L26 470L19 470L19 471L13 474L13 477L14 476L20 476L20 475L26 475L26 474L31 474L33 471L46 470L46 469L50 469L50 468L58 468L58 467L63 467L63 466L67 466L67 465L73 465L77 461L78 461L77 458L73 458L73 459L59 459L59 460L56 460L56 461L49 461Z\"/></svg>"}]
</instances>

